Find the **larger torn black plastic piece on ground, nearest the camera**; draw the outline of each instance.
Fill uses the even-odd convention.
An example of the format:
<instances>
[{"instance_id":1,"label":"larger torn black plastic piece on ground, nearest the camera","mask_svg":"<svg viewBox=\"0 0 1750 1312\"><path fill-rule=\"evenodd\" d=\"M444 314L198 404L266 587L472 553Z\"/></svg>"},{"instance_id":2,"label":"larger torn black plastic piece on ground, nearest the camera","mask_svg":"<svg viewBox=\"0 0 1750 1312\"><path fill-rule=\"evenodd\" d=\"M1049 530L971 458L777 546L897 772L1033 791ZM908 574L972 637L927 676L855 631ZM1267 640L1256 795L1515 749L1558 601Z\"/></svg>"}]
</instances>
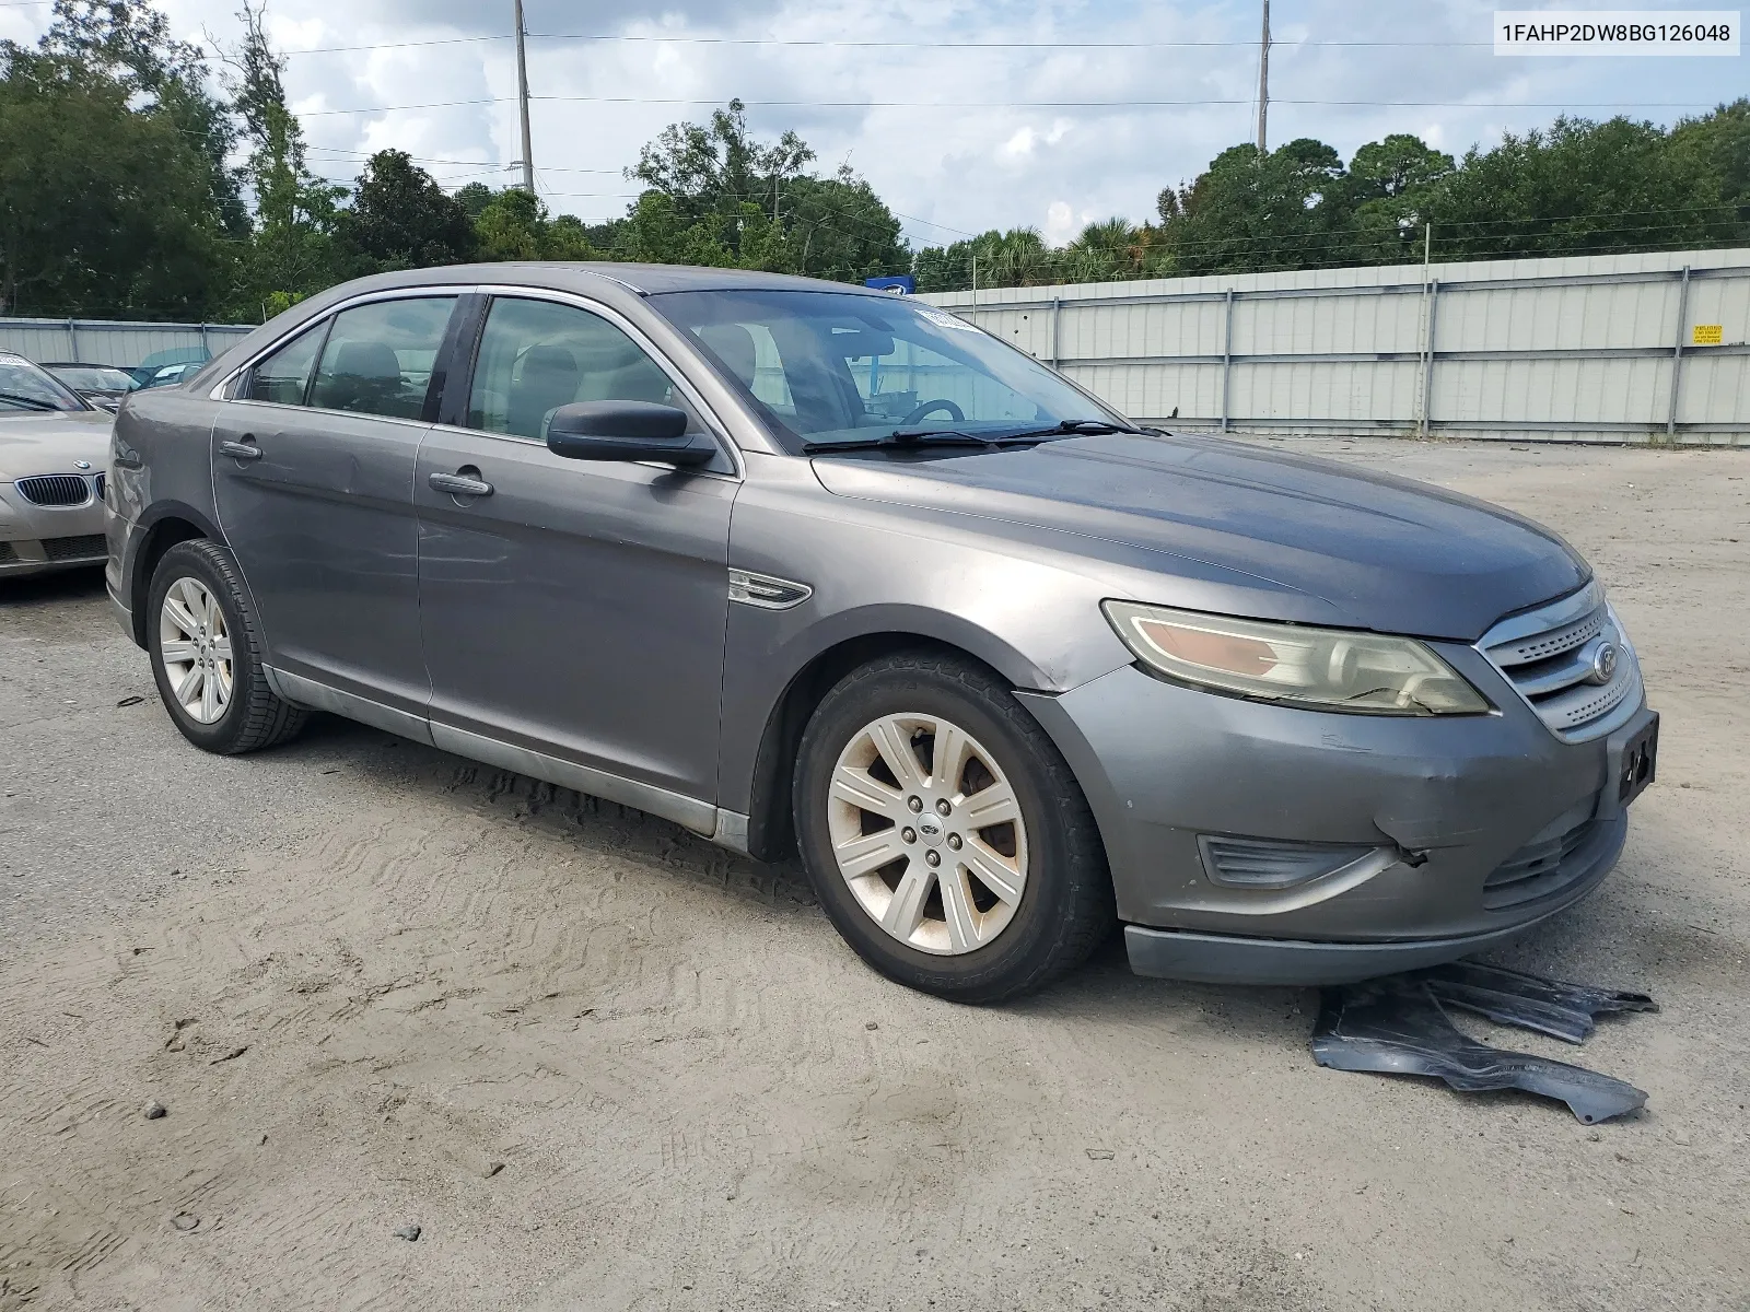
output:
<instances>
[{"instance_id":1,"label":"larger torn black plastic piece on ground, nearest the camera","mask_svg":"<svg viewBox=\"0 0 1750 1312\"><path fill-rule=\"evenodd\" d=\"M1533 981L1563 987L1547 980ZM1491 983L1500 987L1508 980L1493 978ZM1326 988L1312 1029L1312 1060L1334 1071L1435 1076L1460 1093L1519 1088L1566 1102L1586 1125L1608 1121L1647 1102L1642 1090L1596 1071L1477 1043L1452 1025L1435 988L1416 974ZM1510 1006L1500 1004L1498 1009L1500 1020L1519 1023L1508 1018ZM1538 1020L1547 1016L1538 1015ZM1530 1029L1542 1029L1542 1023Z\"/></svg>"}]
</instances>

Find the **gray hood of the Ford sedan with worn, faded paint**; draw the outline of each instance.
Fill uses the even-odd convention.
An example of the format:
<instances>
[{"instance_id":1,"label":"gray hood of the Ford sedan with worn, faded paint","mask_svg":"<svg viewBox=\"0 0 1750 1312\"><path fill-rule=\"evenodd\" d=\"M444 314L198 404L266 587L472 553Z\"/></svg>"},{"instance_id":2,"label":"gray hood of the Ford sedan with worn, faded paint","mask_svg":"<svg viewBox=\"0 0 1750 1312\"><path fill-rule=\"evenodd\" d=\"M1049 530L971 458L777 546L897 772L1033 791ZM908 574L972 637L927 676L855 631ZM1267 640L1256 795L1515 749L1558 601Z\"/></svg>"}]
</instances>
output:
<instances>
[{"instance_id":1,"label":"gray hood of the Ford sedan with worn, faded paint","mask_svg":"<svg viewBox=\"0 0 1750 1312\"><path fill-rule=\"evenodd\" d=\"M1591 577L1561 537L1512 511L1227 439L1113 434L943 458L828 457L814 469L840 497L1102 539L1157 556L1162 574L1176 570L1158 556L1236 570L1384 633L1472 642Z\"/></svg>"}]
</instances>

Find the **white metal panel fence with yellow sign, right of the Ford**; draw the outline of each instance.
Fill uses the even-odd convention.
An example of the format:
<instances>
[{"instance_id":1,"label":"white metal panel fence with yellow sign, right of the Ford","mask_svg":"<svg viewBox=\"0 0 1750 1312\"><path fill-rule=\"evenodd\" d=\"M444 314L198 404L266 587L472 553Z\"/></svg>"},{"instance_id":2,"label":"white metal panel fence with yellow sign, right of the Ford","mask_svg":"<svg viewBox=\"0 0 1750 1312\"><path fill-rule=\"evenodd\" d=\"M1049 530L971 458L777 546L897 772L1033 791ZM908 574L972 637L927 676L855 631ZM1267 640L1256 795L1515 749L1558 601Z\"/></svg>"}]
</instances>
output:
<instances>
[{"instance_id":1,"label":"white metal panel fence with yellow sign, right of the Ford","mask_svg":"<svg viewBox=\"0 0 1750 1312\"><path fill-rule=\"evenodd\" d=\"M1750 444L1750 250L926 299L1181 429Z\"/></svg>"}]
</instances>

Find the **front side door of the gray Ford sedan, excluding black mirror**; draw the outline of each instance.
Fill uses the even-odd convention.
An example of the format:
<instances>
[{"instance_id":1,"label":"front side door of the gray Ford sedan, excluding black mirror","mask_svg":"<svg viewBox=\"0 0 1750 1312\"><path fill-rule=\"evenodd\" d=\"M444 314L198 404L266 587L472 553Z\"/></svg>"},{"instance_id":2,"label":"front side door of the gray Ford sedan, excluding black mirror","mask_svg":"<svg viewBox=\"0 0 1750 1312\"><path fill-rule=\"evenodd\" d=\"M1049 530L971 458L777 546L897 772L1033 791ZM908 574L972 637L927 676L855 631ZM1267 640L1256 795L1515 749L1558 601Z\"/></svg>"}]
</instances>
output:
<instances>
[{"instance_id":1,"label":"front side door of the gray Ford sedan, excluding black mirror","mask_svg":"<svg viewBox=\"0 0 1750 1312\"><path fill-rule=\"evenodd\" d=\"M716 799L735 467L726 446L716 471L546 446L572 401L679 406L710 432L630 329L534 296L485 306L415 486L432 736L528 773L481 738L637 780L668 799L614 796L693 822L674 798ZM457 478L490 492L457 495Z\"/></svg>"}]
</instances>

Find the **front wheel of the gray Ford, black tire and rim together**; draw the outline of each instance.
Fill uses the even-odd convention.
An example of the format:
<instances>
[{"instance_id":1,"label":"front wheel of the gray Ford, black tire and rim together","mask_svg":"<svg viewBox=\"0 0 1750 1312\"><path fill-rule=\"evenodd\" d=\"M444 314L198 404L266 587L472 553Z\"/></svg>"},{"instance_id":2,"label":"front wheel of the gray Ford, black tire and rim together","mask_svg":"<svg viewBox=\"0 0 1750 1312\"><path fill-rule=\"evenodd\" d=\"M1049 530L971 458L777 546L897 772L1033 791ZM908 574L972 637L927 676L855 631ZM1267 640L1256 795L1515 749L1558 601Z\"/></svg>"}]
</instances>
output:
<instances>
[{"instance_id":1,"label":"front wheel of the gray Ford, black tire and rim together","mask_svg":"<svg viewBox=\"0 0 1750 1312\"><path fill-rule=\"evenodd\" d=\"M1111 931L1082 787L1010 689L968 659L903 653L840 680L803 729L791 805L828 917L898 983L1001 1002L1080 966Z\"/></svg>"}]
</instances>

